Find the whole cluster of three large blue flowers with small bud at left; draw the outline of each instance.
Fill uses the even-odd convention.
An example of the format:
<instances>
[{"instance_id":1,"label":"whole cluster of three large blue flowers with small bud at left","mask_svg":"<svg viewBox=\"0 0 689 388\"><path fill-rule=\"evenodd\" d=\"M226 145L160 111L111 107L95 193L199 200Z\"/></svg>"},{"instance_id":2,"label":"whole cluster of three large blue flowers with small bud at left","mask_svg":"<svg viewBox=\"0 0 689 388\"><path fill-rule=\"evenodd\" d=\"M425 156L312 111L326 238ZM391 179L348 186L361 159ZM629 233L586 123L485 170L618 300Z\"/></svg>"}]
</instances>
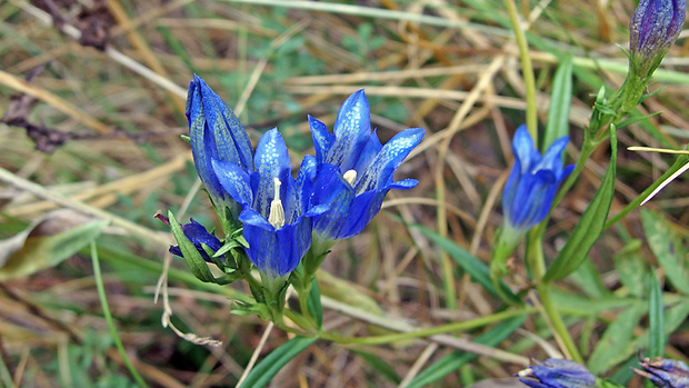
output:
<instances>
[{"instance_id":1,"label":"whole cluster of three large blue flowers with small bud at left","mask_svg":"<svg viewBox=\"0 0 689 388\"><path fill-rule=\"evenodd\" d=\"M316 157L303 159L296 179L278 129L267 131L252 150L237 116L196 74L186 113L199 178L221 209L220 217L229 212L223 221L241 222L247 256L270 278L293 271L312 236L332 241L358 235L389 190L417 185L412 179L396 182L392 176L421 141L423 129L407 129L382 146L371 132L363 90L344 101L334 133L309 117ZM201 243L213 251L220 248L219 240L193 220L182 230L204 259ZM181 256L178 247L170 251Z\"/></svg>"}]
</instances>

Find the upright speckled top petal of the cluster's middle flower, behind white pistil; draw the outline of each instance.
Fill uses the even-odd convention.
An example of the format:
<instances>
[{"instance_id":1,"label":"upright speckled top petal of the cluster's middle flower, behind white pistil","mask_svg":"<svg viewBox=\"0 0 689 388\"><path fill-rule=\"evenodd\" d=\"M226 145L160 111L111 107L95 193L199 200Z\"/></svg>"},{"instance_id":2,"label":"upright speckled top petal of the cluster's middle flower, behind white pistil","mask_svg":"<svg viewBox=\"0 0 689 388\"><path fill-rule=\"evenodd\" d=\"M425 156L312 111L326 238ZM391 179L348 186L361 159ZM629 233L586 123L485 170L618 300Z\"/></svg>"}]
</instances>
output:
<instances>
[{"instance_id":1,"label":"upright speckled top petal of the cluster's middle flower, behind white pistil","mask_svg":"<svg viewBox=\"0 0 689 388\"><path fill-rule=\"evenodd\" d=\"M287 183L290 177L290 161L287 146L277 128L266 132L256 148L253 163L259 175L258 188L254 193L253 209L268 218L270 201L274 193L273 178ZM287 185L280 187L280 198L286 198Z\"/></svg>"}]
</instances>

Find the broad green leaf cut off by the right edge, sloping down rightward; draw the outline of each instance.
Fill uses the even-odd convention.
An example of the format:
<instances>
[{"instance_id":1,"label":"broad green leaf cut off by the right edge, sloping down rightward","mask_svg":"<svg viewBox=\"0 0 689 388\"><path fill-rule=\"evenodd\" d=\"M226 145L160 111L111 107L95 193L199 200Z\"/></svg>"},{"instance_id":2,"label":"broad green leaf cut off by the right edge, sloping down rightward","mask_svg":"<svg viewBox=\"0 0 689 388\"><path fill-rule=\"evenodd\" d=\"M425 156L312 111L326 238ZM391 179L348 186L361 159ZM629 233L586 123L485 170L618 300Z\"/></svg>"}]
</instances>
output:
<instances>
[{"instance_id":1,"label":"broad green leaf cut off by the right edge, sloping down rightward","mask_svg":"<svg viewBox=\"0 0 689 388\"><path fill-rule=\"evenodd\" d=\"M642 210L641 222L648 245L665 269L666 277L677 290L689 295L689 260L681 239L662 216L652 211Z\"/></svg>"}]
</instances>

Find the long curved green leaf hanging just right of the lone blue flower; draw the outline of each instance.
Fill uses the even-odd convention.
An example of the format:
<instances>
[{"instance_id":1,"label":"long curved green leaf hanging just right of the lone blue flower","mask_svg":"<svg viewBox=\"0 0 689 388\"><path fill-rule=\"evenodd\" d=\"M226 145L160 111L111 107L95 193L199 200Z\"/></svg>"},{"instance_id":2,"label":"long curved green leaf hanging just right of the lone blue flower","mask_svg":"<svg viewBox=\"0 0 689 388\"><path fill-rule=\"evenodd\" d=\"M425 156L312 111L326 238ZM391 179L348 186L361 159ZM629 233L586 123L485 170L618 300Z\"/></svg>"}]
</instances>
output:
<instances>
[{"instance_id":1,"label":"long curved green leaf hanging just right of the lone blue flower","mask_svg":"<svg viewBox=\"0 0 689 388\"><path fill-rule=\"evenodd\" d=\"M608 219L608 211L615 195L615 176L617 163L617 137L615 129L610 130L611 156L606 176L600 183L600 188L586 209L579 223L575 227L565 247L558 252L555 261L543 276L545 281L559 280L576 271L577 268L587 259L587 255L593 243L602 233L603 226Z\"/></svg>"}]
</instances>

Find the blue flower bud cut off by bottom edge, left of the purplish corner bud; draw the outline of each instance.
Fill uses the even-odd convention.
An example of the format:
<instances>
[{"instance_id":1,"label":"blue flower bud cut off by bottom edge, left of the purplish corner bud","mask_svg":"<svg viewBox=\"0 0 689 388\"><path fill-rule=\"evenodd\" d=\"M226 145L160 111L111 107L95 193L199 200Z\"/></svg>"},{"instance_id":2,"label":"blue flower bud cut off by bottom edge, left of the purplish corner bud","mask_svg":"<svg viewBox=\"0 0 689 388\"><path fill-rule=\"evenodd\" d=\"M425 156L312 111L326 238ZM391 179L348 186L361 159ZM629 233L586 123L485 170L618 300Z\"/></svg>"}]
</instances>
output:
<instances>
[{"instance_id":1,"label":"blue flower bud cut off by bottom edge, left of the purplish corner bud","mask_svg":"<svg viewBox=\"0 0 689 388\"><path fill-rule=\"evenodd\" d=\"M516 376L532 388L585 388L596 385L596 377L583 366L558 358L549 358Z\"/></svg>"}]
</instances>

